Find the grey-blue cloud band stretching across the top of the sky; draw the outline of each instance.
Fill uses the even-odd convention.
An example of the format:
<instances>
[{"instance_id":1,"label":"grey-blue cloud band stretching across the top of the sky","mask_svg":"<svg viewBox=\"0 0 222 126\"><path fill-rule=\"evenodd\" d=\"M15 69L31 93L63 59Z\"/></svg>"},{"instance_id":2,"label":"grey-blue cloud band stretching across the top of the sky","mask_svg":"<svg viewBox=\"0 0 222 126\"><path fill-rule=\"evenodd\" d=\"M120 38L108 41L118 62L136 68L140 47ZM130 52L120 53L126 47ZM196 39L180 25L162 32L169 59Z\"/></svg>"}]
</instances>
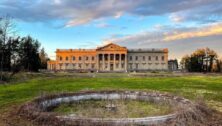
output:
<instances>
[{"instance_id":1,"label":"grey-blue cloud band stretching across the top of the sky","mask_svg":"<svg viewBox=\"0 0 222 126\"><path fill-rule=\"evenodd\" d=\"M123 15L153 16L174 14L174 21L200 20L222 15L221 0L1 0L1 14L28 22L66 20L66 27L87 24ZM193 13L195 12L195 13ZM193 16L191 16L193 15Z\"/></svg>"}]
</instances>

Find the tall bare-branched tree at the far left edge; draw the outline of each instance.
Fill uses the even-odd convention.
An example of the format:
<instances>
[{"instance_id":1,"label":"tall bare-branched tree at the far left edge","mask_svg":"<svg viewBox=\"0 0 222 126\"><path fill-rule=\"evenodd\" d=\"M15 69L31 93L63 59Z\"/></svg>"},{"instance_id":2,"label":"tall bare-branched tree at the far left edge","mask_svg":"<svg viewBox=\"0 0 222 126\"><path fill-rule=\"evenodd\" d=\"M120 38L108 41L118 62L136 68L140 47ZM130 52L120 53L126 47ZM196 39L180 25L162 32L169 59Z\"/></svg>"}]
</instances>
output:
<instances>
[{"instance_id":1,"label":"tall bare-branched tree at the far left edge","mask_svg":"<svg viewBox=\"0 0 222 126\"><path fill-rule=\"evenodd\" d=\"M0 53L1 55L1 80L3 80L3 64L4 64L4 50L5 50L5 45L10 36L15 36L16 30L15 30L16 25L12 21L12 18L8 15L0 18Z\"/></svg>"}]
</instances>

